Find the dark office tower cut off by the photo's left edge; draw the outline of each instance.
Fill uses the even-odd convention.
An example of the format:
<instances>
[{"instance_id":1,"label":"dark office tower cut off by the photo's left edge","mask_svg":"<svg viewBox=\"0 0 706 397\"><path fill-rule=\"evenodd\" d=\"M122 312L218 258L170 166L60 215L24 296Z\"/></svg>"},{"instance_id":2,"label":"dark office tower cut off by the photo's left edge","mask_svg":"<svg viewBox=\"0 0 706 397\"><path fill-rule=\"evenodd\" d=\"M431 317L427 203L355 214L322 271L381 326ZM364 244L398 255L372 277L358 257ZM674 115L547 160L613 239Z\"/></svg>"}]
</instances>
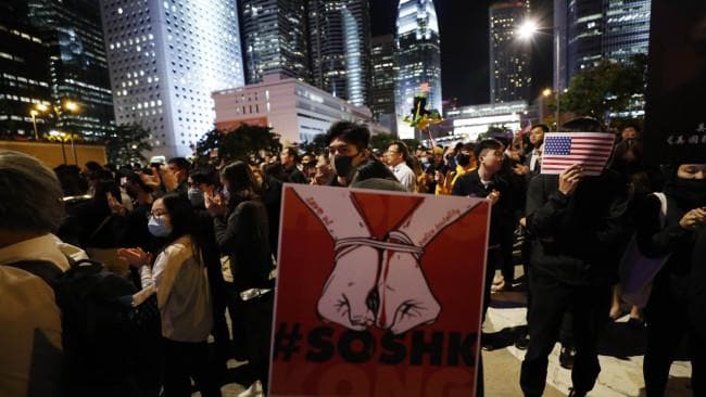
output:
<instances>
[{"instance_id":1,"label":"dark office tower cut off by the photo's left edge","mask_svg":"<svg viewBox=\"0 0 706 397\"><path fill-rule=\"evenodd\" d=\"M49 105L49 59L39 31L27 23L26 1L0 3L0 137L34 135L33 107ZM43 118L36 119L40 135Z\"/></svg>"}]
</instances>

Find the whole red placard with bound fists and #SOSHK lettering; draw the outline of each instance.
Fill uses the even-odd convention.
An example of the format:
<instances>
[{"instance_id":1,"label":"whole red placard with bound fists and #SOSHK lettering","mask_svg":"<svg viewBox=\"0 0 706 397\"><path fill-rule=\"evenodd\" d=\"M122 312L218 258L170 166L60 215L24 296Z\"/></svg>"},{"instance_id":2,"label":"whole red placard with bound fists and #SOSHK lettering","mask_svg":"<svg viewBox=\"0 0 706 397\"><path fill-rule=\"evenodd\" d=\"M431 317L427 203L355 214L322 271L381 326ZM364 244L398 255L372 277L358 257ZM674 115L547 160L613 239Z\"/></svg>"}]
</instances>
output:
<instances>
[{"instance_id":1,"label":"whole red placard with bound fists and #SOSHK lettering","mask_svg":"<svg viewBox=\"0 0 706 397\"><path fill-rule=\"evenodd\" d=\"M490 205L287 184L272 396L474 396Z\"/></svg>"}]
</instances>

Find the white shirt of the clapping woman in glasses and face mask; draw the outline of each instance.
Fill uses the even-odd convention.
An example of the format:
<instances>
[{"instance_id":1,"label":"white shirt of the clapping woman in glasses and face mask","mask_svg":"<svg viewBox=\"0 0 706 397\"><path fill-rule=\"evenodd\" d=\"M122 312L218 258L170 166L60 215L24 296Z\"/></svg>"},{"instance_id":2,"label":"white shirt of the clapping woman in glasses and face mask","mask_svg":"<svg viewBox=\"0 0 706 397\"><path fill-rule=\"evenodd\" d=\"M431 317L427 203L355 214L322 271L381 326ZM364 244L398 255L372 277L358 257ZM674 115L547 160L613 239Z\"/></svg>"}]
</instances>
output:
<instances>
[{"instance_id":1,"label":"white shirt of the clapping woman in glasses and face mask","mask_svg":"<svg viewBox=\"0 0 706 397\"><path fill-rule=\"evenodd\" d=\"M154 266L140 268L142 291L133 297L139 305L156 293L162 336L176 342L204 342L213 325L211 291L203 259L194 257L191 239L181 236L167 246Z\"/></svg>"}]
</instances>

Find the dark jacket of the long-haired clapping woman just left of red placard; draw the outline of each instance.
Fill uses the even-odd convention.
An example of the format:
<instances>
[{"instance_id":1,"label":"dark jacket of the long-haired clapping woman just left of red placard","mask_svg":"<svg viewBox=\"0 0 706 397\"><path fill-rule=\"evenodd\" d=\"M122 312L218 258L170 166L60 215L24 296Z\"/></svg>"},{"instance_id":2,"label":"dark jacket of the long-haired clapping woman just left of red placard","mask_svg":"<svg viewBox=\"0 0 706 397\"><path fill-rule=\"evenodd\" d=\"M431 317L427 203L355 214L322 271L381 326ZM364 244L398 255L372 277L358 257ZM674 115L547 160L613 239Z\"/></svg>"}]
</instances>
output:
<instances>
[{"instance_id":1,"label":"dark jacket of the long-haired clapping woman just left of red placard","mask_svg":"<svg viewBox=\"0 0 706 397\"><path fill-rule=\"evenodd\" d=\"M245 200L214 218L218 248L230 256L236 289L268 287L272 270L267 209L260 200Z\"/></svg>"}]
</instances>

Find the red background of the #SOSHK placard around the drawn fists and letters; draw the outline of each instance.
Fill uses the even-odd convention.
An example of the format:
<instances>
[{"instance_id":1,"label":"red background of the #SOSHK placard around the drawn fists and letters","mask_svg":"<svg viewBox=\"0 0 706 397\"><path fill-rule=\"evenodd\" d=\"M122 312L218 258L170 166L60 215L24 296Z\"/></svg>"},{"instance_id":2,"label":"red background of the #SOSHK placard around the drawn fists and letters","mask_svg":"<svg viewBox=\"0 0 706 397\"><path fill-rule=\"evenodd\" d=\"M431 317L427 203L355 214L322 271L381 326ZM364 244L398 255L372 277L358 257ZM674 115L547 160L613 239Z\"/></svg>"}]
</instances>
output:
<instances>
[{"instance_id":1,"label":"red background of the #SOSHK placard around the drawn fists and letters","mask_svg":"<svg viewBox=\"0 0 706 397\"><path fill-rule=\"evenodd\" d=\"M478 201L371 191L351 191L351 194L371 234L378 239L398 227L421 200L450 200L457 201L456 203ZM394 364L382 363L380 357L391 354L381 342L386 334L390 336L389 333L375 325L370 325L368 331L356 333L328 322L317 313L317 302L333 267L335 242L322 221L287 185L280 227L273 335L275 358L270 369L269 394L401 397L475 395L475 362L479 354L489 217L490 206L482 201L443 229L427 245L420 261L421 269L441 306L441 312L432 324L419 325L398 335L395 353L400 358L401 345L404 345L404 359ZM430 220L431 223L433 221ZM318 334L318 342L312 335L314 330L325 331ZM452 333L462 340L468 335L478 336L469 353L474 358L472 363L458 360L457 344L455 348L450 347L453 344ZM346 334L349 338L342 343L341 337ZM373 343L366 345L363 341L370 336ZM416 362L413 362L413 338L417 340L417 345L420 340L427 344L434 341L442 348L436 353L431 351L433 348L428 348L430 351L417 354ZM324 350L332 349L330 359L324 362L307 359L308 354L320 358L323 345L326 345ZM281 346L287 348L282 349ZM350 359L346 360L341 355L341 348L352 350L356 361L364 362L350 362ZM441 360L432 363L431 356L434 354L438 355L437 358L440 355ZM366 356L369 359L366 360Z\"/></svg>"}]
</instances>

